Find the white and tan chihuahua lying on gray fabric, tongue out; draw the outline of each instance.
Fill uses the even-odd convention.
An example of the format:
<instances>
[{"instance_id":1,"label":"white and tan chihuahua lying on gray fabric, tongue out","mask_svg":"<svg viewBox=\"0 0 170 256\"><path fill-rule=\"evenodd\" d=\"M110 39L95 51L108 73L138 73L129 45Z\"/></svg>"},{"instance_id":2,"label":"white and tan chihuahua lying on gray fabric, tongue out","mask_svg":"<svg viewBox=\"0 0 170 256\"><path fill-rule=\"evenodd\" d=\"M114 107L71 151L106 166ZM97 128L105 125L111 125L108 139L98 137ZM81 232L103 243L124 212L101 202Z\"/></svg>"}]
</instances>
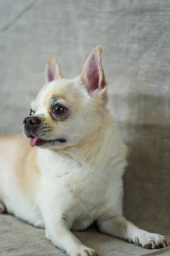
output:
<instances>
[{"instance_id":1,"label":"white and tan chihuahua lying on gray fabric, tongue out","mask_svg":"<svg viewBox=\"0 0 170 256\"><path fill-rule=\"evenodd\" d=\"M164 236L122 215L127 147L106 107L101 55L98 45L75 79L64 79L51 57L46 85L23 120L25 137L0 139L1 212L45 228L46 238L70 256L98 255L71 233L94 221L101 233L142 247L168 246Z\"/></svg>"}]
</instances>

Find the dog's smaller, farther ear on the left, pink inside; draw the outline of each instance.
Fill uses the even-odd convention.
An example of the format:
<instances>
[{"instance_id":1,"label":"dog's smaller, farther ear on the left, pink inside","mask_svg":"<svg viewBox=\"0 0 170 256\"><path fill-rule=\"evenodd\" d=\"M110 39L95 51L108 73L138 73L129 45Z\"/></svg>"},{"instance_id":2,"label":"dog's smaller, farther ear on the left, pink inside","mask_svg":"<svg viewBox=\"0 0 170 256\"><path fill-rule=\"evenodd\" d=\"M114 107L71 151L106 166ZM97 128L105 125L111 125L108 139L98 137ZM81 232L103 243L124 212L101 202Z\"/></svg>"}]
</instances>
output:
<instances>
[{"instance_id":1,"label":"dog's smaller, farther ear on the left, pink inside","mask_svg":"<svg viewBox=\"0 0 170 256\"><path fill-rule=\"evenodd\" d=\"M45 83L62 78L59 63L54 57L50 57L45 68Z\"/></svg>"}]
</instances>

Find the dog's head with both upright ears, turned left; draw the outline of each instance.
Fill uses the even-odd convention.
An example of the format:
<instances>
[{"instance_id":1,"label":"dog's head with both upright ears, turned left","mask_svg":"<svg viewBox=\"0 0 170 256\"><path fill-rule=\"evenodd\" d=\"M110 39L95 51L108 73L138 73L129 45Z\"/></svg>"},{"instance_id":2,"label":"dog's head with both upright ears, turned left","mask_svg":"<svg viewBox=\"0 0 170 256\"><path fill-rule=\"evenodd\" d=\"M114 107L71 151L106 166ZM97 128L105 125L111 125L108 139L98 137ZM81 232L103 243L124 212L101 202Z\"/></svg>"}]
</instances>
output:
<instances>
[{"instance_id":1,"label":"dog's head with both upright ears, turned left","mask_svg":"<svg viewBox=\"0 0 170 256\"><path fill-rule=\"evenodd\" d=\"M107 83L101 63L102 46L89 55L80 76L64 79L54 57L45 69L46 85L23 120L32 147L64 148L93 140L106 113Z\"/></svg>"}]
</instances>

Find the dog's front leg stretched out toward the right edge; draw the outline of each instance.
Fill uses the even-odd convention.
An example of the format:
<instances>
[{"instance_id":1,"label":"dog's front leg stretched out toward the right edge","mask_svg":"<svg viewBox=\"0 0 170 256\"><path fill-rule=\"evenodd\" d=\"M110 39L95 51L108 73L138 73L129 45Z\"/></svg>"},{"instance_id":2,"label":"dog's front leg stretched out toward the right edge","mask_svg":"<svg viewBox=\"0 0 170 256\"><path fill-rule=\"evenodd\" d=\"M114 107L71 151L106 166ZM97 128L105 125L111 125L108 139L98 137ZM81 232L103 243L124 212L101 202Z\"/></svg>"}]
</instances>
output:
<instances>
[{"instance_id":1,"label":"dog's front leg stretched out toward the right edge","mask_svg":"<svg viewBox=\"0 0 170 256\"><path fill-rule=\"evenodd\" d=\"M98 227L102 233L139 244L144 248L159 249L169 245L163 236L141 230L121 215L98 221Z\"/></svg>"}]
</instances>

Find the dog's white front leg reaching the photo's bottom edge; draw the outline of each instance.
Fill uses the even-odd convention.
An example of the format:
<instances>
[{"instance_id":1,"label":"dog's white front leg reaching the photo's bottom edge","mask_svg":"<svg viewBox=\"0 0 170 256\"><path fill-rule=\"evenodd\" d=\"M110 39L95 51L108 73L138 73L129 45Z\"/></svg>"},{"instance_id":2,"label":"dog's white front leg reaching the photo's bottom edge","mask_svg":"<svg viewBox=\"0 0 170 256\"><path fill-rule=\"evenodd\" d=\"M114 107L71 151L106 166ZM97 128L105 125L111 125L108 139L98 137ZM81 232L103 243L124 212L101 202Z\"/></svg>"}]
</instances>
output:
<instances>
[{"instance_id":1,"label":"dog's white front leg reaching the photo's bottom edge","mask_svg":"<svg viewBox=\"0 0 170 256\"><path fill-rule=\"evenodd\" d=\"M48 201L49 203L49 201ZM83 245L70 229L74 222L74 218L65 215L62 207L52 204L49 207L43 204L41 207L42 217L45 222L46 238L61 250L65 250L70 256L98 256L98 254Z\"/></svg>"}]
</instances>

